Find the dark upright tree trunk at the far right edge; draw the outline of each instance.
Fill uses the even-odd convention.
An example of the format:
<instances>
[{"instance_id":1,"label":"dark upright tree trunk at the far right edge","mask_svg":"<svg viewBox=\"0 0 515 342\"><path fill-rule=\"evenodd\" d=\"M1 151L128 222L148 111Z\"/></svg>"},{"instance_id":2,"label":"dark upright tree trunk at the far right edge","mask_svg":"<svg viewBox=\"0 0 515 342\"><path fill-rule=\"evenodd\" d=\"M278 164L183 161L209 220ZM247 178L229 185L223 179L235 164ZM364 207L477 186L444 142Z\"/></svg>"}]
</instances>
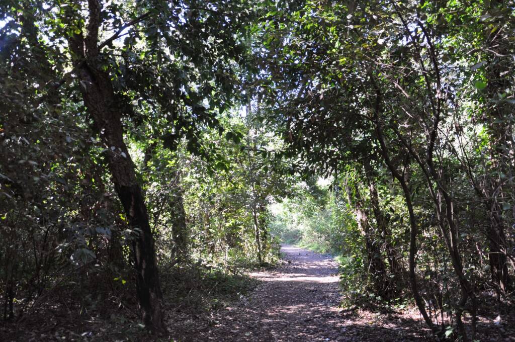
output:
<instances>
[{"instance_id":1,"label":"dark upright tree trunk at the far right edge","mask_svg":"<svg viewBox=\"0 0 515 342\"><path fill-rule=\"evenodd\" d=\"M505 6L500 0L493 0L489 3L489 10L496 11ZM488 13L488 12L487 12ZM509 17L500 16L500 27L504 27ZM509 30L509 29L508 29ZM491 52L487 59L491 61L488 66L488 86L486 91L491 100L498 99L498 94L502 94L512 86L511 80L503 73L509 70L512 62L509 59L499 56L512 55L511 44L508 41L507 33L499 32L488 33L486 37L486 47ZM494 102L492 101L492 102ZM499 198L509 199L513 193L509 193L509 186L505 184L510 177L513 177L513 127L510 116L512 116L512 105L507 102L498 102L490 105L490 111L483 115L483 122L490 136L490 162L491 169L485 175L486 182L482 186L483 194L487 197L489 208L487 212L490 218L490 227L487 230L488 254L490 271L493 282L497 285L500 293L506 293L510 287L510 277L508 273L507 251L509 250L506 233L505 220L503 217L503 203ZM503 175L503 176L502 176ZM503 179L504 178L504 179Z\"/></svg>"}]
</instances>

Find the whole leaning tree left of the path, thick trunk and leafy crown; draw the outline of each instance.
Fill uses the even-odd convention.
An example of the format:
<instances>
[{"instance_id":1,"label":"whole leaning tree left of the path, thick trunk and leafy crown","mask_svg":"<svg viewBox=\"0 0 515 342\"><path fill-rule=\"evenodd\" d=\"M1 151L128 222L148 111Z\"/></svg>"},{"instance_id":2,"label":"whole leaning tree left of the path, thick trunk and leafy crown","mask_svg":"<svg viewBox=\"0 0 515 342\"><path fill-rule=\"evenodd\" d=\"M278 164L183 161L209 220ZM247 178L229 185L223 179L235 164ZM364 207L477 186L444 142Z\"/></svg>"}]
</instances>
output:
<instances>
[{"instance_id":1,"label":"whole leaning tree left of the path, thick trunk and leafy crown","mask_svg":"<svg viewBox=\"0 0 515 342\"><path fill-rule=\"evenodd\" d=\"M241 22L250 11L237 2L204 6L91 0L21 5L7 4L5 13L8 18L22 13L36 19L39 32L34 26L28 34L37 37L38 42L29 42L38 43L35 48L39 50L37 56L29 57L52 57L49 64L58 71L40 86L43 95L36 97L36 107L52 104L50 95L56 92L57 96L71 92L78 99L80 91L134 231L136 287L144 323L163 332L154 241L142 185L124 139L124 122L130 119L137 126L144 113L150 113L153 121L167 123L160 125L164 131L156 133L168 147L187 136L189 148L198 150L199 129L216 127L216 113L229 108L234 97L234 74L238 62L243 63L238 32L244 31ZM87 9L87 20L82 8ZM142 110L149 107L151 111Z\"/></svg>"}]
</instances>

